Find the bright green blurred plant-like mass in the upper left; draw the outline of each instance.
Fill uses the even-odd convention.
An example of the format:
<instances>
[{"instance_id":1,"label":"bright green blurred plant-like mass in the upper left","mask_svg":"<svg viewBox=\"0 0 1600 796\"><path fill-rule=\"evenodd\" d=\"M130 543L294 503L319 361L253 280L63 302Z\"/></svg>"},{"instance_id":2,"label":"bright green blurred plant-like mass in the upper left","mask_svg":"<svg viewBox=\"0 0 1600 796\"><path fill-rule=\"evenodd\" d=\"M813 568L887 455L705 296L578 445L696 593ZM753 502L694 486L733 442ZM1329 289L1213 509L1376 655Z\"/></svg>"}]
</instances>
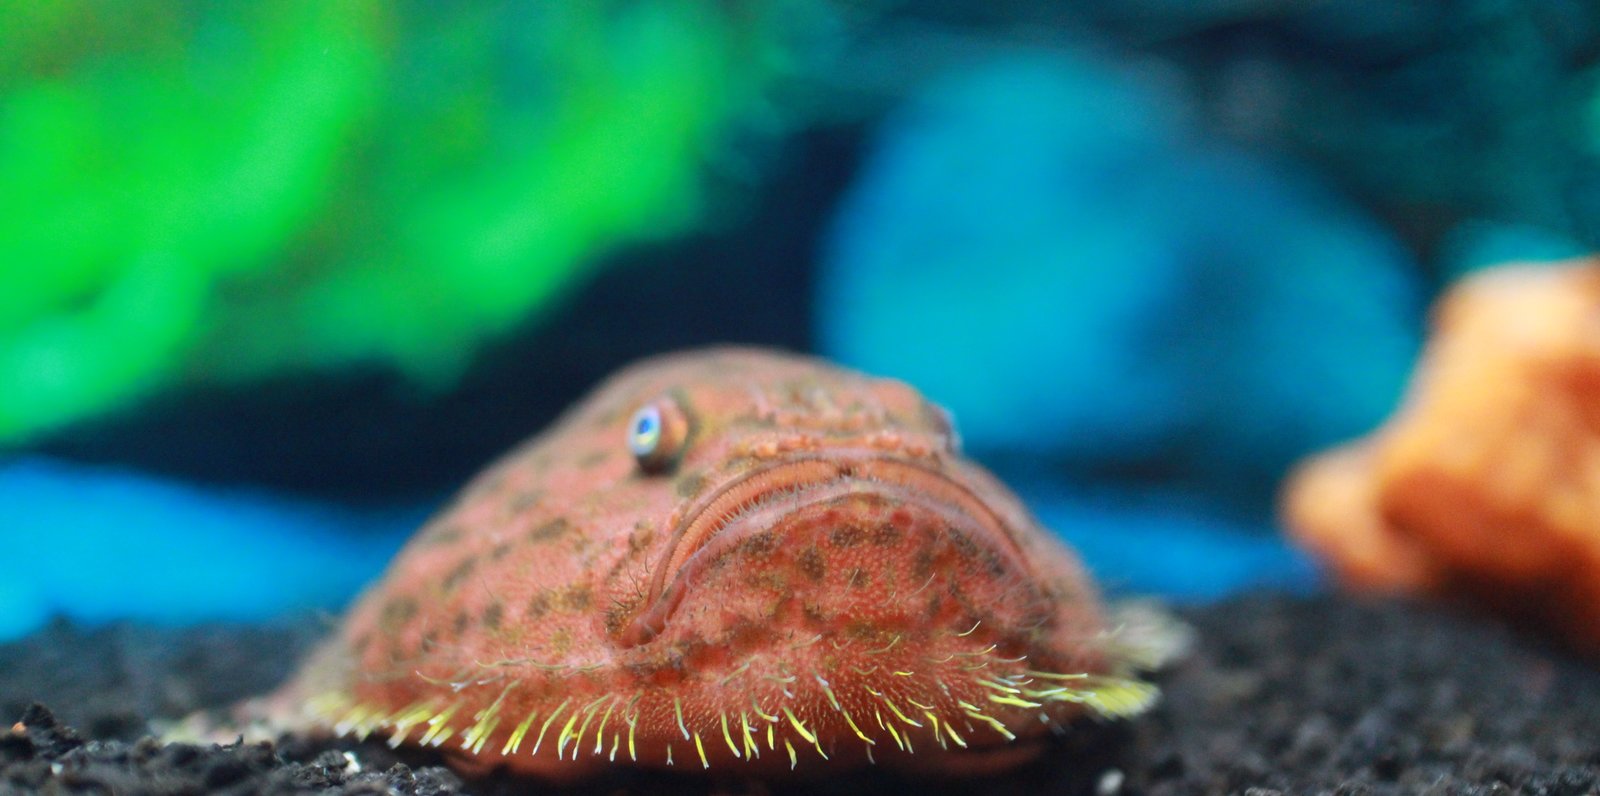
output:
<instances>
[{"instance_id":1,"label":"bright green blurred plant-like mass in the upper left","mask_svg":"<svg viewBox=\"0 0 1600 796\"><path fill-rule=\"evenodd\" d=\"M19 3L0 26L0 441L173 384L434 384L702 211L814 6Z\"/></svg>"}]
</instances>

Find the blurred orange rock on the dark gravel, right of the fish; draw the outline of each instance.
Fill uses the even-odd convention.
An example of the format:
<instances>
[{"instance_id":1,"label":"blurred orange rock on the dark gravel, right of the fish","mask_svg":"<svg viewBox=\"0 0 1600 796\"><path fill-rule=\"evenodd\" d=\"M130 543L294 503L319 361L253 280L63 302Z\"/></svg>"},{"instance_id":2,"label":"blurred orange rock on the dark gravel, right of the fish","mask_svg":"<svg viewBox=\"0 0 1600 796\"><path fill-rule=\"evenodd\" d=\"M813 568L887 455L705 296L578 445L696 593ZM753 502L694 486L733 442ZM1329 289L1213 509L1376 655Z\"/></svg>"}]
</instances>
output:
<instances>
[{"instance_id":1,"label":"blurred orange rock on the dark gravel, right of the fish","mask_svg":"<svg viewBox=\"0 0 1600 796\"><path fill-rule=\"evenodd\" d=\"M1307 462L1285 508L1357 588L1467 598L1600 655L1600 262L1454 288L1400 412Z\"/></svg>"}]
</instances>

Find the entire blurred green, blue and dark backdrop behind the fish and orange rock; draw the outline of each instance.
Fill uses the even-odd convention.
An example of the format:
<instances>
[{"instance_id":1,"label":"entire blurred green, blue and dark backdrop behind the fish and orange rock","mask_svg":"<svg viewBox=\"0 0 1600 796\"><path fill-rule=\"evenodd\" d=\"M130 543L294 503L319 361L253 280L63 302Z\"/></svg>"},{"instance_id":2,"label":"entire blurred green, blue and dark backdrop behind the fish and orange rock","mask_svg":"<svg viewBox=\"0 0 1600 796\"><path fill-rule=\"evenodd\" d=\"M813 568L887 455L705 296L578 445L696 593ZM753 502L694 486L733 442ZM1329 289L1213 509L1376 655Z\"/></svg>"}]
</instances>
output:
<instances>
[{"instance_id":1,"label":"entire blurred green, blue and dark backdrop behind the fish and orange rock","mask_svg":"<svg viewBox=\"0 0 1600 796\"><path fill-rule=\"evenodd\" d=\"M1274 494L1466 270L1600 238L1579 0L21 3L0 636L336 609L616 366L955 411L1109 588L1315 588Z\"/></svg>"}]
</instances>

